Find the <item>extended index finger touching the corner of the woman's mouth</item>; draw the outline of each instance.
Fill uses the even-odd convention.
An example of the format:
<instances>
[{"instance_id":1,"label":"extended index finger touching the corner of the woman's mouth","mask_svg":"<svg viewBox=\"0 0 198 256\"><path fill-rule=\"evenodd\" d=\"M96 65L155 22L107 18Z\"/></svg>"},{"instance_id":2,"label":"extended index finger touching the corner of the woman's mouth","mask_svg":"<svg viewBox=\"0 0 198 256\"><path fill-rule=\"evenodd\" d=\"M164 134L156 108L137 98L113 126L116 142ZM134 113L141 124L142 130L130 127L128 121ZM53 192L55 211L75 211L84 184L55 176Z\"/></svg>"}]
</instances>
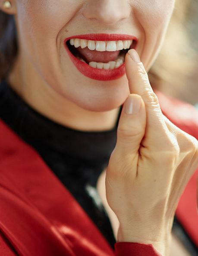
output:
<instances>
[{"instance_id":1,"label":"extended index finger touching the corner of the woman's mouth","mask_svg":"<svg viewBox=\"0 0 198 256\"><path fill-rule=\"evenodd\" d=\"M154 93L148 79L148 74L140 61L135 49L128 51L125 57L126 76L129 80L129 90L131 94L139 94L145 102L147 114L147 132L153 134L155 139L160 139L162 135L170 133L163 119L157 95ZM156 141L157 143L157 141Z\"/></svg>"}]
</instances>

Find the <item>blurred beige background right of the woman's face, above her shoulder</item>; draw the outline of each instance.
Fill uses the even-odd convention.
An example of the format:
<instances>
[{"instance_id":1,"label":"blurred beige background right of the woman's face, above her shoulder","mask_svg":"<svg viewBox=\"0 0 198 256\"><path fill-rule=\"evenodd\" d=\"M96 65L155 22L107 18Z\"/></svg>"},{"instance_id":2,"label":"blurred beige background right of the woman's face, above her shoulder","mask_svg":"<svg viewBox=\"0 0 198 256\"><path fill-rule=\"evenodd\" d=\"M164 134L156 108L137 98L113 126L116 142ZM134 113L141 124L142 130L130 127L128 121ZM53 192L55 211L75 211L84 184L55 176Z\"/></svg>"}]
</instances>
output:
<instances>
[{"instance_id":1,"label":"blurred beige background right of the woman's face, above her shoulder","mask_svg":"<svg viewBox=\"0 0 198 256\"><path fill-rule=\"evenodd\" d=\"M162 51L149 76L152 86L198 107L198 0L176 0Z\"/></svg>"}]
</instances>

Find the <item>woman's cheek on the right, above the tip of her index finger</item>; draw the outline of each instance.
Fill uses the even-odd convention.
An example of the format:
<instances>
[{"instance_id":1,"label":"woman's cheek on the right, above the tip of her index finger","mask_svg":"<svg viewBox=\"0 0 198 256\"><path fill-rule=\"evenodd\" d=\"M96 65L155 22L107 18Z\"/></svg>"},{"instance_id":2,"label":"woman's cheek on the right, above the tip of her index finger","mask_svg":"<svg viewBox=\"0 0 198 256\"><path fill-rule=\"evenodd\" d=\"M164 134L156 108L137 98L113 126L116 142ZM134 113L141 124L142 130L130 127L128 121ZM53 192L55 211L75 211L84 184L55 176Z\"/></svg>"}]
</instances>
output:
<instances>
[{"instance_id":1,"label":"woman's cheek on the right, above the tip of her index finger","mask_svg":"<svg viewBox=\"0 0 198 256\"><path fill-rule=\"evenodd\" d=\"M134 16L142 35L141 61L147 71L161 48L174 2L174 0L134 1Z\"/></svg>"}]
</instances>

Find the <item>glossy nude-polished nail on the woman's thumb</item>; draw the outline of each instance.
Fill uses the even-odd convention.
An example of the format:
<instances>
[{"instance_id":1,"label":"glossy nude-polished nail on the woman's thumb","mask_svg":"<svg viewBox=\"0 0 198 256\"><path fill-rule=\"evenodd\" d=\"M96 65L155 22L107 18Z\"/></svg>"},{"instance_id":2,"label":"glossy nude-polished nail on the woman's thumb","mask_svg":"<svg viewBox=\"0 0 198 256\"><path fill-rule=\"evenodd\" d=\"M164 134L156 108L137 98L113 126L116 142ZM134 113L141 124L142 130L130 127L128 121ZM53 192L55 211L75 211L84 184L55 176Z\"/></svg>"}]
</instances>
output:
<instances>
[{"instance_id":1,"label":"glossy nude-polished nail on the woman's thumb","mask_svg":"<svg viewBox=\"0 0 198 256\"><path fill-rule=\"evenodd\" d=\"M141 98L129 96L125 103L126 114L137 114L141 107Z\"/></svg>"}]
</instances>

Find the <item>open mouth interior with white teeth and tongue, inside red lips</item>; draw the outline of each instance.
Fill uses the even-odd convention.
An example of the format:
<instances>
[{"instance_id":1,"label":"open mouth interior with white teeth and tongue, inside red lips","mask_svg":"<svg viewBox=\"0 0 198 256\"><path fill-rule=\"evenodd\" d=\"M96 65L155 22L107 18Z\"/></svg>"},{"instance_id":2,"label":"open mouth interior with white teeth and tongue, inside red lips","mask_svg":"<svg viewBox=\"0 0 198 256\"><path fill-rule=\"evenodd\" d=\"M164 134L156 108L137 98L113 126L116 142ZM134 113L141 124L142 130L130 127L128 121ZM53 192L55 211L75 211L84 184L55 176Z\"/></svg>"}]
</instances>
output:
<instances>
[{"instance_id":1,"label":"open mouth interior with white teeth and tongue, inside red lips","mask_svg":"<svg viewBox=\"0 0 198 256\"><path fill-rule=\"evenodd\" d=\"M129 49L135 49L136 40L96 41L72 38L66 41L69 51L92 68L115 69L123 65Z\"/></svg>"}]
</instances>

